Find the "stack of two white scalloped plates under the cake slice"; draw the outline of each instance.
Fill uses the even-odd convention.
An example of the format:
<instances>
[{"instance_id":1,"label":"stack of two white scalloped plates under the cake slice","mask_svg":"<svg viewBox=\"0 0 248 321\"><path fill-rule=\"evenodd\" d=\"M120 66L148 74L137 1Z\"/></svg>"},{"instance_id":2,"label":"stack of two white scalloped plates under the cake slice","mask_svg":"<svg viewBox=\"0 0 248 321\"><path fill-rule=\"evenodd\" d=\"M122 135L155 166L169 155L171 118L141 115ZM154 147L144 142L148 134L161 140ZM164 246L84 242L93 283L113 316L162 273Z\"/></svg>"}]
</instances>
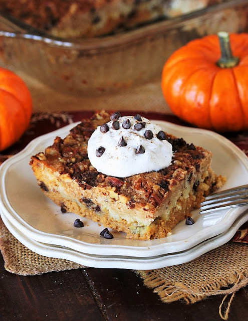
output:
<instances>
[{"instance_id":1,"label":"stack of two white scalloped plates under the cake slice","mask_svg":"<svg viewBox=\"0 0 248 321\"><path fill-rule=\"evenodd\" d=\"M213 170L227 179L223 189L247 184L248 158L229 140L208 130L156 123L189 143L211 150ZM155 269L188 262L226 243L248 220L248 207L204 215L195 210L195 224L183 221L171 236L150 241L126 239L124 233L113 231L113 239L104 239L100 232L105 227L86 218L81 218L84 227L74 227L78 216L62 214L42 193L29 162L32 155L52 144L56 136L65 137L75 125L34 139L0 167L1 217L10 232L31 250L91 267Z\"/></svg>"}]
</instances>

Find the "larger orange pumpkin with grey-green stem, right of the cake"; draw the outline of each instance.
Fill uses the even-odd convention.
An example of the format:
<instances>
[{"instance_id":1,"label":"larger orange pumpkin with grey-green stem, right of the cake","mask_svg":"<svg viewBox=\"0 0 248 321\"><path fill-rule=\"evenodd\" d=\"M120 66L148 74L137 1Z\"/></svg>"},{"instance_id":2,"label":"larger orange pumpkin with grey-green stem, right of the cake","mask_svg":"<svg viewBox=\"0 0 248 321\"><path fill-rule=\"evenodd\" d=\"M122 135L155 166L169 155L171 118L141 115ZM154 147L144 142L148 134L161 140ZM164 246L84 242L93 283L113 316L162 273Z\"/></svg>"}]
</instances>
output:
<instances>
[{"instance_id":1,"label":"larger orange pumpkin with grey-green stem, right of the cake","mask_svg":"<svg viewBox=\"0 0 248 321\"><path fill-rule=\"evenodd\" d=\"M215 131L248 128L248 34L193 40L164 65L162 92L183 120Z\"/></svg>"}]
</instances>

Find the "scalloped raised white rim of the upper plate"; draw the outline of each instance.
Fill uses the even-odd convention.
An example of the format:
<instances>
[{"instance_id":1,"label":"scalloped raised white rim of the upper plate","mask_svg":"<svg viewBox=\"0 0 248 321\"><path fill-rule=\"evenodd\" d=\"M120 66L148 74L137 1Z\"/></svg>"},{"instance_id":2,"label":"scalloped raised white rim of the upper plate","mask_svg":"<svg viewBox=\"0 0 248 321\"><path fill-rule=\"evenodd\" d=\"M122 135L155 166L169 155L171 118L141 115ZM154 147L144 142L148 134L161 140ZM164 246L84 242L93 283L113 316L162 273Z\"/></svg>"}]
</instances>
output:
<instances>
[{"instance_id":1,"label":"scalloped raised white rim of the upper plate","mask_svg":"<svg viewBox=\"0 0 248 321\"><path fill-rule=\"evenodd\" d=\"M209 137L212 137L213 139L216 139L221 144L224 145L226 148L232 149L232 152L238 157L239 161L244 165L246 171L248 172L248 161L246 155L232 142L230 142L225 137L221 136L220 134L217 134L215 132L206 130L206 129L200 129L200 128L191 128L191 127L185 127L177 124L173 124L167 121L161 121L161 120L155 120L158 124L165 126L166 128L169 128L170 130L176 130L180 132L184 132L187 134L197 133L200 135L208 135ZM12 164L17 164L20 159L23 159L25 157L28 157L30 154L33 154L33 151L37 149L37 145L43 144L44 141L46 141L48 138L54 138L57 135L67 134L69 129L71 129L73 126L78 124L79 122L72 123L70 125L64 126L60 129L57 129L55 131L52 131L50 133L44 134L42 136L39 136L32 140L21 152L14 155L10 159L8 159L1 167L0 167L0 175L2 176L2 180L0 182L0 193L2 198L0 199L0 209L4 211L5 215L8 219L11 219L12 216L15 216L15 218L18 219L18 221L22 224L23 229L25 230L25 233L28 233L30 237L33 239L40 241L40 242L49 242L51 244L61 244L63 242L64 246L69 247L76 247L76 249L80 251L87 252L89 254L99 254L99 253L106 253L109 254L109 251L115 252L118 251L122 255L137 255L137 256L150 256L151 252L156 255L162 255L166 253L173 253L177 252L180 248L181 250L187 250L190 247L193 247L197 245L198 243L206 240L207 238L211 238L216 236L217 234L223 233L225 230L227 230L231 224L234 222L234 220L241 215L243 210L241 208L236 209L228 209L225 211L227 213L228 217L231 218L229 221L229 225L227 226L220 226L218 230L211 231L207 233L207 235L204 234L204 231L201 231L200 237L198 239L194 238L192 242L190 242L190 239L192 240L192 237L189 238L189 240L185 240L185 242L178 241L174 242L174 247L167 246L168 244L171 245L170 242L168 242L168 239L170 238L164 238L165 243L163 243L163 240L160 244L154 244L156 243L156 240L151 241L139 241L139 246L126 246L125 244L122 245L114 245L111 244L111 242L108 242L106 244L90 244L87 242L83 242L78 239L72 239L65 235L57 235L57 234L51 234L47 232L40 231L39 229L34 228L29 224L29 222L26 222L18 213L16 213L11 204L8 204L8 197L6 194L6 187L5 187L5 177L8 174L9 168L12 166ZM169 130L168 130L169 131ZM41 151L41 150L38 150ZM39 188L37 187L39 190ZM233 214L234 213L234 214ZM213 230L213 229L212 229ZM199 234L199 233L198 233ZM154 242L155 241L155 242ZM137 241L136 241L137 242Z\"/></svg>"}]
</instances>

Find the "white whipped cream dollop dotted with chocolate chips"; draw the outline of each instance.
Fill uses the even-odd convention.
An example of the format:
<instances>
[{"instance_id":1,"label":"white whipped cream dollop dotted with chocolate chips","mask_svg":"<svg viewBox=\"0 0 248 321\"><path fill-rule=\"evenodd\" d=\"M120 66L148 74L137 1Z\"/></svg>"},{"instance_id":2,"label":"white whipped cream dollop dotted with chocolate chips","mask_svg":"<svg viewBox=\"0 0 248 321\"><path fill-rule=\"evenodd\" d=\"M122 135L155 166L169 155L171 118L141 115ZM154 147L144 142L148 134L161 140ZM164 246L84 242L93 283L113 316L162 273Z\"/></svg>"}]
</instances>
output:
<instances>
[{"instance_id":1,"label":"white whipped cream dollop dotted with chocolate chips","mask_svg":"<svg viewBox=\"0 0 248 321\"><path fill-rule=\"evenodd\" d=\"M172 145L160 126L140 115L114 113L111 119L88 141L88 156L98 172L123 178L171 164Z\"/></svg>"}]
</instances>

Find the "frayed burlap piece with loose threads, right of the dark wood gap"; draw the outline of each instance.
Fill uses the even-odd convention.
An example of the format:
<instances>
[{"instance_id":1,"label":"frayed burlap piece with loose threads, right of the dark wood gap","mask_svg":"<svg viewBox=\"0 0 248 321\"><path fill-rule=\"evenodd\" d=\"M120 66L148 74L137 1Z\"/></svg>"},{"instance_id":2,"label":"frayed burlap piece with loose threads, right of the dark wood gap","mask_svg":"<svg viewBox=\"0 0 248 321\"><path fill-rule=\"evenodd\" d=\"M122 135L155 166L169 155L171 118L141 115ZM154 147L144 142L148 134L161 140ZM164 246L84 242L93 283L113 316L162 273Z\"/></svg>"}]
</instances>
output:
<instances>
[{"instance_id":1,"label":"frayed burlap piece with loose threads, right of the dark wood gap","mask_svg":"<svg viewBox=\"0 0 248 321\"><path fill-rule=\"evenodd\" d=\"M137 271L137 274L163 302L183 299L194 303L211 295L223 294L219 315L226 320L235 292L248 284L248 249L246 244L227 243L191 262ZM222 311L229 294L227 307Z\"/></svg>"}]
</instances>

